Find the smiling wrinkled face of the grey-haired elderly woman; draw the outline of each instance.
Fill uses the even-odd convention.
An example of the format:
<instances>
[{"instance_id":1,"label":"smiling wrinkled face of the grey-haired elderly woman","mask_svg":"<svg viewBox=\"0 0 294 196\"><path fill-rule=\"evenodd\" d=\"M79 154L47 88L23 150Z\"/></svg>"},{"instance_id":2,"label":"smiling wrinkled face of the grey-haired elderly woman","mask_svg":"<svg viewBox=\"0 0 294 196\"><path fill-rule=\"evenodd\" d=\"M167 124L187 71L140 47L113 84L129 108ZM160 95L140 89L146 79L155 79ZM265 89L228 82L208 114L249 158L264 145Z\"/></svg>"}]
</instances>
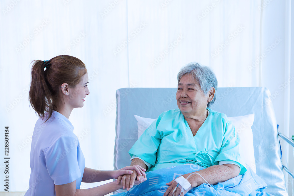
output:
<instances>
[{"instance_id":1,"label":"smiling wrinkled face of the grey-haired elderly woman","mask_svg":"<svg viewBox=\"0 0 294 196\"><path fill-rule=\"evenodd\" d=\"M206 115L208 95L206 96L191 74L184 75L178 83L178 107L185 117Z\"/></svg>"}]
</instances>

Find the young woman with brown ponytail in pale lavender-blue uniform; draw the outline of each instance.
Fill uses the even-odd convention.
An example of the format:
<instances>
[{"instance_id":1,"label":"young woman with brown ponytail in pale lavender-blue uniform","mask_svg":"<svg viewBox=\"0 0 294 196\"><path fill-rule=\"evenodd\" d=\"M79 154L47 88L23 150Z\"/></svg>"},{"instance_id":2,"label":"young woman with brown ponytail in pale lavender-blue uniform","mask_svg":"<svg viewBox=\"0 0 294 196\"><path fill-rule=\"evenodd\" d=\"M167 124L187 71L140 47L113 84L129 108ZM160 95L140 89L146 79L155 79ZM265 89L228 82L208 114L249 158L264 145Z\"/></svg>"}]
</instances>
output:
<instances>
[{"instance_id":1,"label":"young woman with brown ponytail in pale lavender-blue uniform","mask_svg":"<svg viewBox=\"0 0 294 196\"><path fill-rule=\"evenodd\" d=\"M85 64L73 56L56 56L49 61L35 60L32 66L29 101L39 119L36 122L30 156L28 195L106 195L122 187L113 181L90 189L79 189L81 182L117 179L136 171L146 180L139 165L116 171L85 167L85 159L69 116L84 105L88 95L88 73Z\"/></svg>"}]
</instances>

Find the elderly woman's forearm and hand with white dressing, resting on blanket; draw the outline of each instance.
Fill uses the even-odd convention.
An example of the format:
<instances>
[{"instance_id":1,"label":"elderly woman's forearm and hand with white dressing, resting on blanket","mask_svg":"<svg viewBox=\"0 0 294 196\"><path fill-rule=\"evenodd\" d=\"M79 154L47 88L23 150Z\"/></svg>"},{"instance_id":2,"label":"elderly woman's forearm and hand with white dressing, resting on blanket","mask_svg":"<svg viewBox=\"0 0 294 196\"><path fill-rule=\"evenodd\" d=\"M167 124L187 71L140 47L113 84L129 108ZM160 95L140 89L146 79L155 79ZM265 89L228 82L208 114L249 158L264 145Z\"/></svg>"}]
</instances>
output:
<instances>
[{"instance_id":1,"label":"elderly woman's forearm and hand with white dressing, resting on blanket","mask_svg":"<svg viewBox=\"0 0 294 196\"><path fill-rule=\"evenodd\" d=\"M195 173L195 172L192 172ZM218 182L225 182L233 177L236 177L240 173L240 167L234 164L223 164L223 165L213 165L207 167L203 170L197 171L209 184L216 185ZM187 177L191 173L184 174L183 177ZM199 185L206 183L198 174L193 174L187 179L192 187L198 187ZM164 193L164 196L172 195L172 190L177 186L176 181L168 182L168 189Z\"/></svg>"}]
</instances>

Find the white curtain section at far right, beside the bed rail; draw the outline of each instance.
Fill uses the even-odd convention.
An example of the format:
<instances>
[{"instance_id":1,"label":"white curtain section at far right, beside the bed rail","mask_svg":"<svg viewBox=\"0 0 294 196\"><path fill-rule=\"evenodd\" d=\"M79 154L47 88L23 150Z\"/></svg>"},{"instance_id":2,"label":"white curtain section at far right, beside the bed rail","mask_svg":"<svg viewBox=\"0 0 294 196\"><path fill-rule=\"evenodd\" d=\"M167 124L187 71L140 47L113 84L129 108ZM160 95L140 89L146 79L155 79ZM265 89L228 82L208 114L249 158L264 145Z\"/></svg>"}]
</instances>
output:
<instances>
[{"instance_id":1,"label":"white curtain section at far right, beside the bed rail","mask_svg":"<svg viewBox=\"0 0 294 196\"><path fill-rule=\"evenodd\" d=\"M294 18L293 14L291 15L291 10L294 11L294 9L292 7L290 0L262 1L261 47L258 55L259 57L264 56L260 63L260 85L268 87L270 90L271 99L269 101L274 106L279 132L289 138L294 135L294 66L291 63L293 54L291 41L294 41L294 31L291 32L293 28L291 22L294 22ZM293 147L286 145L283 140L281 140L281 147L283 151L282 162L293 172ZM293 195L292 177L288 173L284 173L288 193Z\"/></svg>"}]
</instances>

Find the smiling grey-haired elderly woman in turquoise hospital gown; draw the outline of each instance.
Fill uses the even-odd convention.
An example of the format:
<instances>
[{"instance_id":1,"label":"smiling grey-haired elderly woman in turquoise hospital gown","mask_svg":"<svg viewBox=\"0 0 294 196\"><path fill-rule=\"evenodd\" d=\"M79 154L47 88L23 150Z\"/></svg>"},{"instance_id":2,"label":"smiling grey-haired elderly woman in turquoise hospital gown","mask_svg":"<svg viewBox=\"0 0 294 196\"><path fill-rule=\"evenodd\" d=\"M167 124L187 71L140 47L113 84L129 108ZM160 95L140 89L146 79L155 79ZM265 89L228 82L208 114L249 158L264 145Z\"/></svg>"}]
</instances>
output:
<instances>
[{"instance_id":1,"label":"smiling grey-haired elderly woman in turquoise hospital gown","mask_svg":"<svg viewBox=\"0 0 294 196\"><path fill-rule=\"evenodd\" d=\"M217 184L243 174L246 168L238 152L239 138L234 125L225 114L209 109L216 100L217 85L209 67L198 63L183 67L178 73L176 93L179 109L161 113L141 135L129 151L131 165L140 165L148 171L184 164L205 167L197 172L200 175L188 178L191 188L204 183L204 179ZM190 174L183 177L186 179ZM119 180L129 190L142 177L133 171ZM173 180L167 185L164 196L179 195L178 182Z\"/></svg>"}]
</instances>

